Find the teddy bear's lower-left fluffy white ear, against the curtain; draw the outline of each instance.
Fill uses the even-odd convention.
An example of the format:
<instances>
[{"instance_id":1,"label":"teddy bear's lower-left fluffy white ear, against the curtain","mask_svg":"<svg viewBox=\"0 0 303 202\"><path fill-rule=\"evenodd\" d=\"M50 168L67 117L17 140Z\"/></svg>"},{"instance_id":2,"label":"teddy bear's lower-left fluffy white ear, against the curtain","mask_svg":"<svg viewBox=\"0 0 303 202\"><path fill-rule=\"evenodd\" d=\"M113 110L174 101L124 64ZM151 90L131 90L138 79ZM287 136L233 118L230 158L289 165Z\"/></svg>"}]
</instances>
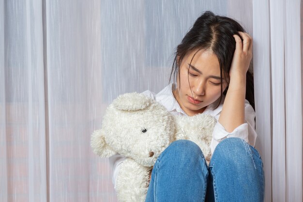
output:
<instances>
[{"instance_id":1,"label":"teddy bear's lower-left fluffy white ear, against the curtain","mask_svg":"<svg viewBox=\"0 0 303 202\"><path fill-rule=\"evenodd\" d=\"M91 134L91 148L96 155L101 157L110 157L117 154L105 141L103 129L95 130Z\"/></svg>"}]
</instances>

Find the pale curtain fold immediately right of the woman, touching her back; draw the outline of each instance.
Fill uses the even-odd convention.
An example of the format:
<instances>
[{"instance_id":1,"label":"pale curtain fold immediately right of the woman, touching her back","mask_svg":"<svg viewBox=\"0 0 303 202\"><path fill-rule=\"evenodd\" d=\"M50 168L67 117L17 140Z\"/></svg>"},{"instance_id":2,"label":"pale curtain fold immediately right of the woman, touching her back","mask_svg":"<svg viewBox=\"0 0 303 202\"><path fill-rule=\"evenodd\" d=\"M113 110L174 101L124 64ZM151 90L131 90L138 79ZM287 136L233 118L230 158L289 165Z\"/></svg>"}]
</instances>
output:
<instances>
[{"instance_id":1,"label":"pale curtain fold immediately right of the woman, touching her back","mask_svg":"<svg viewBox=\"0 0 303 202\"><path fill-rule=\"evenodd\" d=\"M272 127L270 82L269 2L253 1L254 28L254 85L256 108L256 148L262 160L265 174L265 202L272 201Z\"/></svg>"}]
</instances>

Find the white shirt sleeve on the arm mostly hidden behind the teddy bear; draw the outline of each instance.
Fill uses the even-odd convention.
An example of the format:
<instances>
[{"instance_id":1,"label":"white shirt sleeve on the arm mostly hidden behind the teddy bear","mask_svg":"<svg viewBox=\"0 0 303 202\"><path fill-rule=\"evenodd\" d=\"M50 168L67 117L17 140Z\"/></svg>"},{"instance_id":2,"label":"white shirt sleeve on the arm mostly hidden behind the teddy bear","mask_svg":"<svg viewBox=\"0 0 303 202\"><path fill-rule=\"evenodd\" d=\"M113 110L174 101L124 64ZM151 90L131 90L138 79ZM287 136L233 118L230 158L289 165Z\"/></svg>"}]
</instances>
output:
<instances>
[{"instance_id":1,"label":"white shirt sleeve on the arm mostly hidden behind the teddy bear","mask_svg":"<svg viewBox=\"0 0 303 202\"><path fill-rule=\"evenodd\" d=\"M142 92L142 94L145 94L148 97L155 99L155 93L153 93L149 90ZM112 173L113 173L112 182L113 182L115 189L116 189L116 178L117 178L117 175L118 175L118 172L120 169L120 165L125 159L126 159L126 157L119 155L119 154L109 157L109 166L112 169Z\"/></svg>"}]
</instances>

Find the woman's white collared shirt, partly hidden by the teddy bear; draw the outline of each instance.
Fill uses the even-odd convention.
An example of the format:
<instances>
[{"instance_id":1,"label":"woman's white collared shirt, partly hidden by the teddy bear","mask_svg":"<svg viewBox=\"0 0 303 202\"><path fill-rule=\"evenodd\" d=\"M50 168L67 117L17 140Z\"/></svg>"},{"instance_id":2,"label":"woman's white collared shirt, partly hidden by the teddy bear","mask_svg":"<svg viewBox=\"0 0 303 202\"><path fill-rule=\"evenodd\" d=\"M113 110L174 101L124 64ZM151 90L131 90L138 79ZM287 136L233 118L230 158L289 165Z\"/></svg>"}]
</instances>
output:
<instances>
[{"instance_id":1,"label":"woman's white collared shirt, partly hidden by the teddy bear","mask_svg":"<svg viewBox=\"0 0 303 202\"><path fill-rule=\"evenodd\" d=\"M172 93L172 84L169 84L167 87L165 87L162 91L155 94L151 91L145 91L143 94L151 97L152 99L158 101L161 103L172 115L184 115L187 116L187 114L181 109L179 103L175 99L173 93ZM247 143L255 147L256 139L257 139L257 133L255 131L255 116L256 113L253 109L253 107L249 104L247 100L245 100L245 123L239 125L237 128L235 128L231 133L227 132L225 128L218 122L223 102L224 102L225 96L222 95L222 101L217 109L214 109L217 106L216 101L212 103L211 105L207 106L206 109L203 111L204 114L210 114L212 115L216 120L217 123L214 126L213 132L212 132L212 141L211 141L211 154L213 154L214 149L219 144L221 140L224 140L226 138L230 137L236 137L241 138L245 140ZM112 157L109 157L109 164L110 167L113 169L113 177L112 181L114 184L114 187L116 189L116 176L119 172L120 164L122 161L126 159L122 155L114 155Z\"/></svg>"}]
</instances>

